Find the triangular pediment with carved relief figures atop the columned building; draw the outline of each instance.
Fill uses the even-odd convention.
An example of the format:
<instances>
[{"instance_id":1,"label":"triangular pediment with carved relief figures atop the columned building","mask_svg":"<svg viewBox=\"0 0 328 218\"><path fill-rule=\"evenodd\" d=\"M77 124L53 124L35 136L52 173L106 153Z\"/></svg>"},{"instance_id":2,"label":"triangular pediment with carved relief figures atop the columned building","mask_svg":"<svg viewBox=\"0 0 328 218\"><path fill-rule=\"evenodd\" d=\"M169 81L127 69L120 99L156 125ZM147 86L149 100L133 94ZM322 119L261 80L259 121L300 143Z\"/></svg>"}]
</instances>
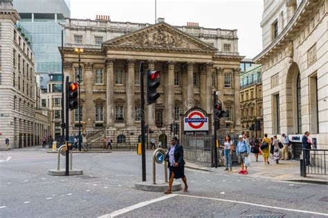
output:
<instances>
[{"instance_id":1,"label":"triangular pediment with carved relief figures atop the columned building","mask_svg":"<svg viewBox=\"0 0 328 218\"><path fill-rule=\"evenodd\" d=\"M122 35L104 42L104 46L135 46L147 48L174 48L181 50L216 51L217 48L192 37L165 22Z\"/></svg>"}]
</instances>

